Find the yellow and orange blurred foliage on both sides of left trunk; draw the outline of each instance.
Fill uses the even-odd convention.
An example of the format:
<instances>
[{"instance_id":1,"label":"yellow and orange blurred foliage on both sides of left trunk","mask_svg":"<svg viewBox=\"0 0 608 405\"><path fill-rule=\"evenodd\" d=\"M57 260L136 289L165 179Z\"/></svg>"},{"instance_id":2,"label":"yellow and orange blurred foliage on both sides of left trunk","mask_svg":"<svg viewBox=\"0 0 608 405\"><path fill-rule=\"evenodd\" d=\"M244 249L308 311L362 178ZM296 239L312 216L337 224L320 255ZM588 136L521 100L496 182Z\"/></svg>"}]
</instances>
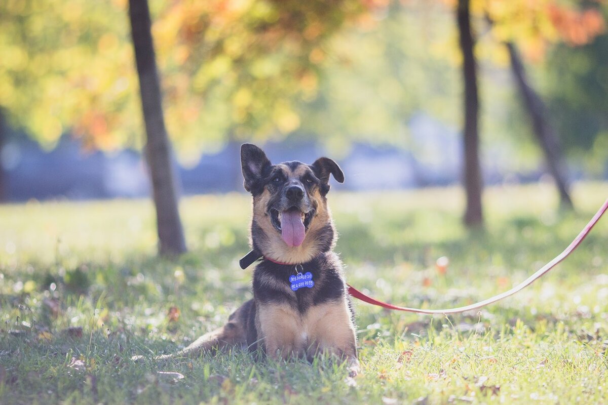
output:
<instances>
[{"instance_id":1,"label":"yellow and orange blurred foliage on both sides of left trunk","mask_svg":"<svg viewBox=\"0 0 608 405\"><path fill-rule=\"evenodd\" d=\"M0 3L0 107L15 126L46 146L64 132L103 149L141 143L127 7ZM293 104L316 93L322 44L364 12L356 0L159 0L152 8L168 131L185 158L229 136L298 128Z\"/></svg>"}]
</instances>

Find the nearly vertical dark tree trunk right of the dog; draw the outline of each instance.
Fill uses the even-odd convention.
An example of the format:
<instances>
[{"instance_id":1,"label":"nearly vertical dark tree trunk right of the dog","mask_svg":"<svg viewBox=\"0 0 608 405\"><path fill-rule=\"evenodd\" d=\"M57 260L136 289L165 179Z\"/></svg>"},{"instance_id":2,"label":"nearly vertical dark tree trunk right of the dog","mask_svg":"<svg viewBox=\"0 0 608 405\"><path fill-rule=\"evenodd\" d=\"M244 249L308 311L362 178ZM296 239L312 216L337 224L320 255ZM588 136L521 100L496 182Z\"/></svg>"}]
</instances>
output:
<instances>
[{"instance_id":1,"label":"nearly vertical dark tree trunk right of the dog","mask_svg":"<svg viewBox=\"0 0 608 405\"><path fill-rule=\"evenodd\" d=\"M462 71L465 81L465 129L463 137L465 146L466 211L464 221L468 226L477 226L483 224L483 185L479 163L477 66L475 66L475 56L473 54L475 39L471 32L469 0L458 1L457 20L460 50L463 56Z\"/></svg>"}]
</instances>

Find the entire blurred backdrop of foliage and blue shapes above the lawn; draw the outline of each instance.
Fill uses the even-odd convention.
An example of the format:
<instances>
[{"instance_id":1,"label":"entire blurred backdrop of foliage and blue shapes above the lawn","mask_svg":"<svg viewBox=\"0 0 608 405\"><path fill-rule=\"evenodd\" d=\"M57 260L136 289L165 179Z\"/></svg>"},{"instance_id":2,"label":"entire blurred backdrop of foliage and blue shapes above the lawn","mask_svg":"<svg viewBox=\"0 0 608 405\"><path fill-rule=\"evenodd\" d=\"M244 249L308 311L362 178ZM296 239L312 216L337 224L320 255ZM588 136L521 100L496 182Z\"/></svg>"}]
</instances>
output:
<instances>
[{"instance_id":1,"label":"entire blurred backdrop of foliage and blue shapes above the lawn","mask_svg":"<svg viewBox=\"0 0 608 405\"><path fill-rule=\"evenodd\" d=\"M151 194L148 5L148 118L181 194L242 191L244 141L329 155L342 189L464 182L469 205L538 180L569 205L573 180L608 176L603 0L2 0L2 201Z\"/></svg>"}]
</instances>

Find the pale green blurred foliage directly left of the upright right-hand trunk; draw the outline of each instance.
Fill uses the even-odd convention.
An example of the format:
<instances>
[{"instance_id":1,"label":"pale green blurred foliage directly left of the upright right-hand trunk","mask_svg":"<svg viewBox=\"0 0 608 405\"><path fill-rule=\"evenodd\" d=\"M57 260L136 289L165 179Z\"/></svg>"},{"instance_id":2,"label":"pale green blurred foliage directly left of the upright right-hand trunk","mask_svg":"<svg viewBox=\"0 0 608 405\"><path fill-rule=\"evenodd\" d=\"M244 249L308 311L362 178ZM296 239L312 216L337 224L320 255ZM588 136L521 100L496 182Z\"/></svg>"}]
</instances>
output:
<instances>
[{"instance_id":1,"label":"pale green blurred foliage directly left of the upright right-hand trunk","mask_svg":"<svg viewBox=\"0 0 608 405\"><path fill-rule=\"evenodd\" d=\"M438 4L395 2L345 26L328 44L318 97L301 106L299 134L334 150L353 140L411 146L413 114L458 122L452 19Z\"/></svg>"}]
</instances>

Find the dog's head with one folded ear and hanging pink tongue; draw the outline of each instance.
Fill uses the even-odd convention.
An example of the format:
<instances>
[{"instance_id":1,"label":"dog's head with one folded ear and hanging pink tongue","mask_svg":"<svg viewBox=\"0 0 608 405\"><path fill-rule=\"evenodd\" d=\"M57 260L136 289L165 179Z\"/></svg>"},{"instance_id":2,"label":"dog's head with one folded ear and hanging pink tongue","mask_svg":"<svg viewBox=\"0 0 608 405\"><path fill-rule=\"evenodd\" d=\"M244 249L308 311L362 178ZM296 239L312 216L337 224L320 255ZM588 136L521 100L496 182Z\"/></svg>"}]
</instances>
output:
<instances>
[{"instance_id":1,"label":"dog's head with one folded ear and hanging pink tongue","mask_svg":"<svg viewBox=\"0 0 608 405\"><path fill-rule=\"evenodd\" d=\"M330 175L344 182L336 162L322 157L312 165L272 163L255 145L241 146L244 186L254 197L251 239L264 256L303 263L330 250L335 231L326 194Z\"/></svg>"}]
</instances>

